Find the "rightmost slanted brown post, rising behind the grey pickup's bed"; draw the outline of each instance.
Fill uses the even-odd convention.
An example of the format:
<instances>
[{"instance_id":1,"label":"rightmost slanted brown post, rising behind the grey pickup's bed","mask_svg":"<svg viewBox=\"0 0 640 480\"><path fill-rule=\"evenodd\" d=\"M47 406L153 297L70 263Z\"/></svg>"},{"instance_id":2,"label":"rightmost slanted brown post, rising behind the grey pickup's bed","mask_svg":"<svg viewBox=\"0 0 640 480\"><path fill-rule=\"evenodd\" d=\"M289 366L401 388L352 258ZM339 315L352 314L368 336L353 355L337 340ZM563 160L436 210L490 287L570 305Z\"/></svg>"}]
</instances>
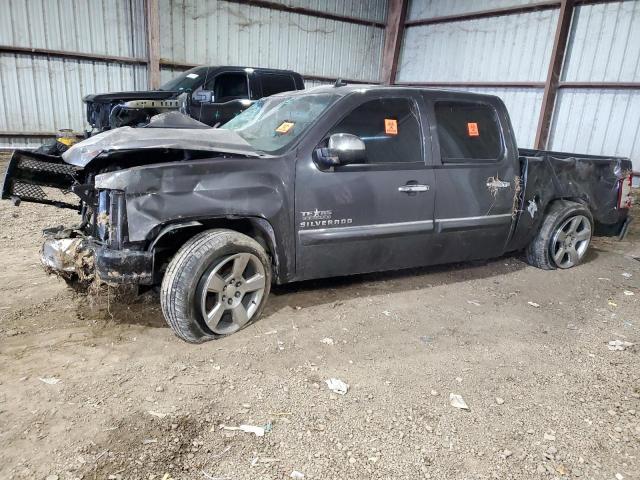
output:
<instances>
[{"instance_id":1,"label":"rightmost slanted brown post, rising behind the grey pickup's bed","mask_svg":"<svg viewBox=\"0 0 640 480\"><path fill-rule=\"evenodd\" d=\"M547 148L547 143L549 141L551 118L553 117L558 85L560 84L560 74L562 73L564 55L567 51L571 17L573 16L573 5L574 0L562 0L560 5L556 33L553 39L553 49L551 50L551 60L549 62L549 70L547 71L547 79L545 81L544 94L542 96L542 107L540 109L540 117L538 119L538 128L536 129L535 146L540 150Z\"/></svg>"}]
</instances>

